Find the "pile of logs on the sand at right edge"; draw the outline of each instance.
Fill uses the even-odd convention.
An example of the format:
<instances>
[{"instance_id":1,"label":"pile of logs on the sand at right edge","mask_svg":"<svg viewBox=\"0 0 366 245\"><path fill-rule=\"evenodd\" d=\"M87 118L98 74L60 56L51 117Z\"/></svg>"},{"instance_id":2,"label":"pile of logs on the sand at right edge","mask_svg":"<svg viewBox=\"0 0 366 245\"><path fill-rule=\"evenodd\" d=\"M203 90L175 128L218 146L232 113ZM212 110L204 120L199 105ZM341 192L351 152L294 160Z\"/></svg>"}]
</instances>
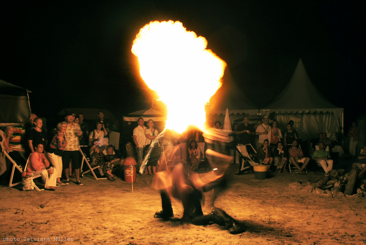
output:
<instances>
[{"instance_id":1,"label":"pile of logs on the sand at right edge","mask_svg":"<svg viewBox=\"0 0 366 245\"><path fill-rule=\"evenodd\" d=\"M344 169L333 169L329 175L325 175L316 181L299 181L301 185L307 186L306 191L317 193L332 193L335 196L350 196L356 194L360 197L366 197L366 179L357 179L358 171L352 170L351 173L344 173ZM299 185L299 184L297 184ZM295 188L294 184L290 184ZM313 188L312 190L311 187ZM343 195L344 194L344 195Z\"/></svg>"}]
</instances>

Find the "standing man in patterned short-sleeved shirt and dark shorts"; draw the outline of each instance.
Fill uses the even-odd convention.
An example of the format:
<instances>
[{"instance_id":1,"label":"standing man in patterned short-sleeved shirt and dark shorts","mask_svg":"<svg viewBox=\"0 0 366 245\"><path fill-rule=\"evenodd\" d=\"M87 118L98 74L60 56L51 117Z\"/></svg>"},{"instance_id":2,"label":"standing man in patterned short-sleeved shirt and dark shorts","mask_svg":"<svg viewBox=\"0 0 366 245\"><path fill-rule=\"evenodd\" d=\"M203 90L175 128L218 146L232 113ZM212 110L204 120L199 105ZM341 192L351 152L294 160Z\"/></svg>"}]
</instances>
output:
<instances>
[{"instance_id":1,"label":"standing man in patterned short-sleeved shirt and dark shorts","mask_svg":"<svg viewBox=\"0 0 366 245\"><path fill-rule=\"evenodd\" d=\"M79 181L80 177L80 161L79 161L79 138L82 137L83 132L80 129L79 124L74 122L75 115L72 113L66 114L66 146L62 153L62 167L65 171L66 182L65 184L70 184L69 168L70 160L72 159L72 168L75 170L75 177L77 185L83 185Z\"/></svg>"}]
</instances>

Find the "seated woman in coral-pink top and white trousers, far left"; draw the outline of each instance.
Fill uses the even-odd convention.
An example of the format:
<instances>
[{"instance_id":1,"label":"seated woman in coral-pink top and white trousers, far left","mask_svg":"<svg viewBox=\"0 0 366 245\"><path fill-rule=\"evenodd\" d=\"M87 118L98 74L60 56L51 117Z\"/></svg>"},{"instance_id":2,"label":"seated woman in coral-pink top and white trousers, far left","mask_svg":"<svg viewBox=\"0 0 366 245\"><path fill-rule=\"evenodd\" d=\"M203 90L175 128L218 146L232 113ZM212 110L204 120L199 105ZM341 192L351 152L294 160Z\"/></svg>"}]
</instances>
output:
<instances>
[{"instance_id":1,"label":"seated woman in coral-pink top and white trousers, far left","mask_svg":"<svg viewBox=\"0 0 366 245\"><path fill-rule=\"evenodd\" d=\"M43 152L43 144L34 144L34 152L29 156L29 162L26 168L26 175L41 175L43 182L45 183L45 190L54 191L56 188L57 170L53 169L53 173L47 168L49 167L49 161L45 157ZM48 177L49 173L49 177Z\"/></svg>"}]
</instances>

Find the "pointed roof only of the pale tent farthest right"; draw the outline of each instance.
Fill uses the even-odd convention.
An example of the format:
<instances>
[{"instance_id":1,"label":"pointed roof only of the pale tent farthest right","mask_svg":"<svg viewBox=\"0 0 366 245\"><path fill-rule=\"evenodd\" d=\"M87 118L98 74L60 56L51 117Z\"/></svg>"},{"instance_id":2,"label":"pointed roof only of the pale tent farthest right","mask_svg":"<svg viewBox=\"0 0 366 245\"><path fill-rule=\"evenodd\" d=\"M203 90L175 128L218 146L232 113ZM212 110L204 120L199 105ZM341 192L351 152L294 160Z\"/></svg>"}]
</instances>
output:
<instances>
[{"instance_id":1,"label":"pointed roof only of the pale tent farthest right","mask_svg":"<svg viewBox=\"0 0 366 245\"><path fill-rule=\"evenodd\" d=\"M343 112L329 103L328 100L311 82L300 58L290 82L279 96L261 111L290 113L290 112Z\"/></svg>"}]
</instances>

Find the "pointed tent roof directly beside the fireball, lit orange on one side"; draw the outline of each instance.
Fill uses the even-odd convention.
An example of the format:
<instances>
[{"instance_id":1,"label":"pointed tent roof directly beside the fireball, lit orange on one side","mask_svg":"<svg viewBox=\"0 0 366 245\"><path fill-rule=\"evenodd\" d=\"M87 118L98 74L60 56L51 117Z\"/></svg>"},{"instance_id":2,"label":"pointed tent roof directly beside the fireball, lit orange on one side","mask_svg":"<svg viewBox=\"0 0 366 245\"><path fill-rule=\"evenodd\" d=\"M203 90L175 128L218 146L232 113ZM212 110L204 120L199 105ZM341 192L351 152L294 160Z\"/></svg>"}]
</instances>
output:
<instances>
[{"instance_id":1,"label":"pointed tent roof directly beside the fireball, lit orange on one side","mask_svg":"<svg viewBox=\"0 0 366 245\"><path fill-rule=\"evenodd\" d=\"M258 107L251 103L242 90L236 85L229 68L225 70L223 85L211 97L206 106L208 114L225 114L226 109L234 114L257 114Z\"/></svg>"}]
</instances>

